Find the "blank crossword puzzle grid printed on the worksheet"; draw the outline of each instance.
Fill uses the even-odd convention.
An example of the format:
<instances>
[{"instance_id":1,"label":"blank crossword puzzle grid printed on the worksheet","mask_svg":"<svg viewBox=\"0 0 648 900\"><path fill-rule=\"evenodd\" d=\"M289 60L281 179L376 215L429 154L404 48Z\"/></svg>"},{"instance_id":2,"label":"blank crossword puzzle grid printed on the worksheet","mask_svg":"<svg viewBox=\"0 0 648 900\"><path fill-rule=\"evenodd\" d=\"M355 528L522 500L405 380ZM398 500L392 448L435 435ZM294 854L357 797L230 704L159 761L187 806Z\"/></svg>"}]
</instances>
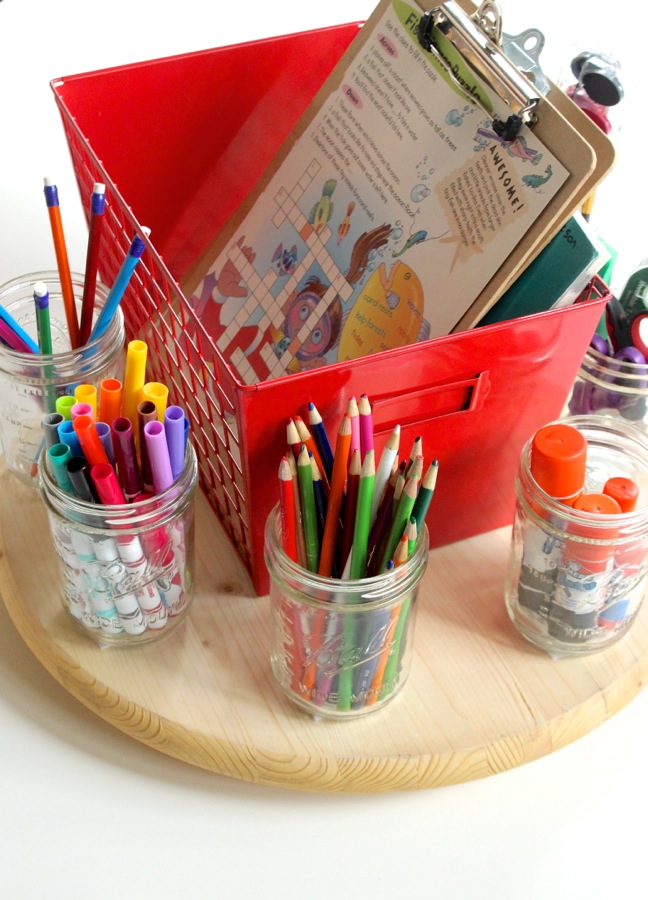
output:
<instances>
[{"instance_id":1,"label":"blank crossword puzzle grid printed on the worksheet","mask_svg":"<svg viewBox=\"0 0 648 900\"><path fill-rule=\"evenodd\" d=\"M262 342L259 353L270 371L270 378L286 374L287 368L294 361L297 351L316 328L335 296L339 294L344 302L349 299L353 291L353 288L326 250L325 245L331 237L330 229L324 227L320 234L316 234L306 216L297 206L297 202L318 175L320 168L320 164L313 160L290 192L285 188L281 188L275 195L274 200L277 204L277 212L272 218L272 224L275 228L278 228L286 220L290 221L308 248L304 258L296 265L294 272L285 279L277 297L274 297L271 293L271 288L280 277L274 269L268 269L262 278L247 260L240 247L235 245L228 251L228 258L236 266L241 275L241 280L245 283L250 295L234 320L218 339L217 346L219 350L226 352L241 328L245 327L251 316L258 312L259 307L262 307L263 315L257 325L259 335L255 343ZM281 358L278 358L273 350L269 329L276 329L279 332L283 331L285 319L283 307L314 262L320 265L324 275L330 282L330 287L315 309L313 309L308 319L303 323L299 333L284 350ZM245 384L254 384L260 378L265 380L267 377L265 373L261 374L254 370L249 358L238 347L232 351L229 360Z\"/></svg>"}]
</instances>

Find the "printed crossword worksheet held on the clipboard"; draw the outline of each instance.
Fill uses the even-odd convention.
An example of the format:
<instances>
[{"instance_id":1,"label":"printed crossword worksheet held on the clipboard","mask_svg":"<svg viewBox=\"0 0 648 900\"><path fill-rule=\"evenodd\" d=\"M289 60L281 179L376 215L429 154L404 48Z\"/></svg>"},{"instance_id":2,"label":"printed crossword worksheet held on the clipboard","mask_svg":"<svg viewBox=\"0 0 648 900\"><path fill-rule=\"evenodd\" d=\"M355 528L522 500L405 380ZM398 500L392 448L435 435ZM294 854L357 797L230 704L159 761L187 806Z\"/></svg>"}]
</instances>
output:
<instances>
[{"instance_id":1,"label":"printed crossword worksheet held on the clipboard","mask_svg":"<svg viewBox=\"0 0 648 900\"><path fill-rule=\"evenodd\" d=\"M246 384L448 334L568 177L421 15L386 7L191 297Z\"/></svg>"}]
</instances>

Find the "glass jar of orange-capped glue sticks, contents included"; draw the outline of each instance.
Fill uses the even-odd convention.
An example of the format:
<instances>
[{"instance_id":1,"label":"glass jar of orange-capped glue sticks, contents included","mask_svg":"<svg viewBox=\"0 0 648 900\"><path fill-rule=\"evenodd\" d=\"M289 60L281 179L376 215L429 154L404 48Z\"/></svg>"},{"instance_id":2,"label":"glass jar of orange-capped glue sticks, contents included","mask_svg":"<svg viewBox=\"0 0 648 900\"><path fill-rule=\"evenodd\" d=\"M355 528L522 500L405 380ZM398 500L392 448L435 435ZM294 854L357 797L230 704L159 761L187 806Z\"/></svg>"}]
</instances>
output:
<instances>
[{"instance_id":1,"label":"glass jar of orange-capped glue sticks, contents included","mask_svg":"<svg viewBox=\"0 0 648 900\"><path fill-rule=\"evenodd\" d=\"M574 416L525 446L506 605L552 655L581 655L631 628L648 581L648 446L632 424Z\"/></svg>"}]
</instances>

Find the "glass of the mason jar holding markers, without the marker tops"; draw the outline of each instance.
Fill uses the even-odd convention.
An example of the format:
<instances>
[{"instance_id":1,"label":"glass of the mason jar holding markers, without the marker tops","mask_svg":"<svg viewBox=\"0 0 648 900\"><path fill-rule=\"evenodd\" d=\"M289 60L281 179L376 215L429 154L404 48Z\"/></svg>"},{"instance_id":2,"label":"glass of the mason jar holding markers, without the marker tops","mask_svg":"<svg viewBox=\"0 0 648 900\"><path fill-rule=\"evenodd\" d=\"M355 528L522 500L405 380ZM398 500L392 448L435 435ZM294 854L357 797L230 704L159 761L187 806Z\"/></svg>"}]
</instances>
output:
<instances>
[{"instance_id":1,"label":"glass of the mason jar holding markers, without the marker tops","mask_svg":"<svg viewBox=\"0 0 648 900\"><path fill-rule=\"evenodd\" d=\"M58 590L70 620L103 647L170 634L194 593L192 445L169 488L130 503L81 500L59 485L46 461L39 481L58 559Z\"/></svg>"}]
</instances>

